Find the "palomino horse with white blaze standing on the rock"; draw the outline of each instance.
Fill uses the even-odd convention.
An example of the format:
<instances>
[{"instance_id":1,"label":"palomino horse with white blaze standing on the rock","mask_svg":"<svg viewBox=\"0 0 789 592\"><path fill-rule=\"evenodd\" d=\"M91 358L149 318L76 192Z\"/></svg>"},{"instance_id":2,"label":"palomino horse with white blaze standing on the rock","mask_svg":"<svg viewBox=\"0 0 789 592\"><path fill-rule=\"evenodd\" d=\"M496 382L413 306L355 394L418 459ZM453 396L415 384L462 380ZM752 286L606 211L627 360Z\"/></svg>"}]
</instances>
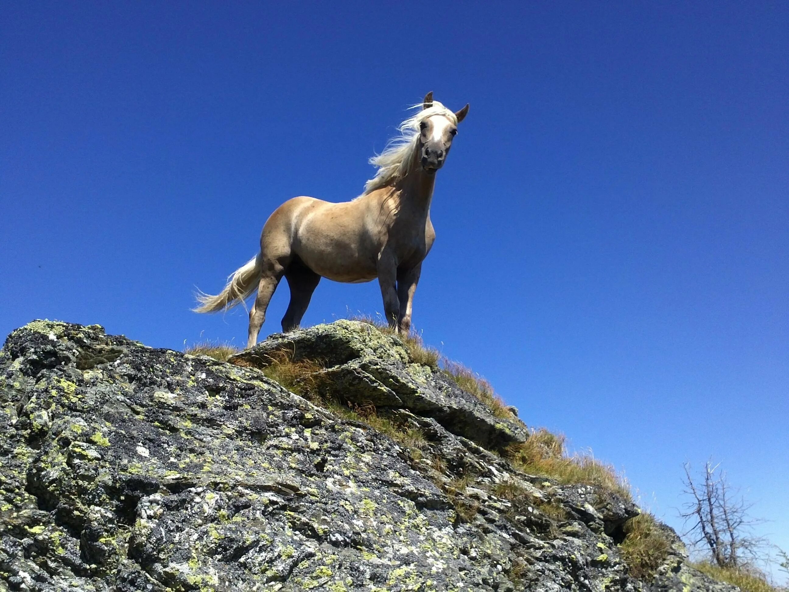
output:
<instances>
[{"instance_id":1,"label":"palomino horse with white blaze standing on the rock","mask_svg":"<svg viewBox=\"0 0 789 592\"><path fill-rule=\"evenodd\" d=\"M378 171L365 193L340 204L314 197L286 201L266 221L260 253L230 275L220 294L198 294L195 311L229 309L257 287L249 313L247 347L252 347L283 275L290 286L284 332L298 327L320 278L350 283L378 278L387 322L408 335L422 260L436 238L430 222L436 170L469 112L466 105L453 113L434 101L432 92L421 107L400 124L400 136L370 159Z\"/></svg>"}]
</instances>

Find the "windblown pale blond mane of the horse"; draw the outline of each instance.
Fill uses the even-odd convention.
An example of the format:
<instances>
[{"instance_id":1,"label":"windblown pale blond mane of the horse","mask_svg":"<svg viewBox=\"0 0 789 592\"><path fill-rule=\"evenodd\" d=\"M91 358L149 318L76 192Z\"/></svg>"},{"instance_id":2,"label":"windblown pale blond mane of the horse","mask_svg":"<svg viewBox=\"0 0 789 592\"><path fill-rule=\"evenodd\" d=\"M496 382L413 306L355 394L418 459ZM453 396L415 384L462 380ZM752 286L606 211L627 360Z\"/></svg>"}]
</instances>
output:
<instances>
[{"instance_id":1,"label":"windblown pale blond mane of the horse","mask_svg":"<svg viewBox=\"0 0 789 592\"><path fill-rule=\"evenodd\" d=\"M400 135L392 138L387 143L387 147L383 149L383 152L369 160L370 164L378 167L378 170L376 171L376 176L365 183L365 193L362 193L362 195L367 195L376 189L391 185L409 173L409 167L413 163L413 151L416 150L419 140L419 124L425 119L433 115L443 115L454 125L458 124L458 118L452 111L438 101L433 101L432 103L432 107L428 107L428 109L423 109L422 103L411 107L420 111L417 111L413 117L409 117L402 122L398 126Z\"/></svg>"}]
</instances>

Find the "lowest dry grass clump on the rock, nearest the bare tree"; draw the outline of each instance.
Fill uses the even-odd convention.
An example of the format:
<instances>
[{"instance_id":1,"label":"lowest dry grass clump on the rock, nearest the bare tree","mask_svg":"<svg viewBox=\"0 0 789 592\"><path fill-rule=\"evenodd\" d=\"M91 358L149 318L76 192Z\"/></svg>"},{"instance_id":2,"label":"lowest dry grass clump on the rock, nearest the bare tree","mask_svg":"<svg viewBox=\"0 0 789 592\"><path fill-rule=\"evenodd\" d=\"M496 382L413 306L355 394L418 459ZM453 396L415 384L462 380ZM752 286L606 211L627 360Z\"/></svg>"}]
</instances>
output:
<instances>
[{"instance_id":1,"label":"lowest dry grass clump on the rock, nearest the bare tree","mask_svg":"<svg viewBox=\"0 0 789 592\"><path fill-rule=\"evenodd\" d=\"M631 518L624 525L625 540L619 552L634 578L649 580L666 560L671 543L651 514Z\"/></svg>"}]
</instances>

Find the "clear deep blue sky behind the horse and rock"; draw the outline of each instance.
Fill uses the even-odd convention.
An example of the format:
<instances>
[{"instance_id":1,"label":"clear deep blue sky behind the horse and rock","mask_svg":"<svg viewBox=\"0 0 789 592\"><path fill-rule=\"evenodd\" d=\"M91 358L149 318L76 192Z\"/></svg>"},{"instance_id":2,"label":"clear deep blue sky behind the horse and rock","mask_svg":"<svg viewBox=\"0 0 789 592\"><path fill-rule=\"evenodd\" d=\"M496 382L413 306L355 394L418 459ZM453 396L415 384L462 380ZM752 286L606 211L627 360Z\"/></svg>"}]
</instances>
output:
<instances>
[{"instance_id":1,"label":"clear deep blue sky behind the horse and rock","mask_svg":"<svg viewBox=\"0 0 789 592\"><path fill-rule=\"evenodd\" d=\"M469 102L414 323L678 526L712 456L789 549L781 2L5 3L0 333L244 343L189 312L299 194L348 200L405 108ZM263 335L279 330L282 286ZM381 310L324 280L308 324Z\"/></svg>"}]
</instances>

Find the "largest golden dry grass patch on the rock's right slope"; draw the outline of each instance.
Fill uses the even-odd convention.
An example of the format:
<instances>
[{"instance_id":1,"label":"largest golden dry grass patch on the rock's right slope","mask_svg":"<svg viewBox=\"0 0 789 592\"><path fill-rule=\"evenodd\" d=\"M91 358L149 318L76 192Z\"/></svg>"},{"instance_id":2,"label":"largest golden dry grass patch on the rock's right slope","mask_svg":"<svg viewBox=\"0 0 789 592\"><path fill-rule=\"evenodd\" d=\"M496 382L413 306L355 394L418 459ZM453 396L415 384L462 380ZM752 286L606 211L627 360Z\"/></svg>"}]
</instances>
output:
<instances>
[{"instance_id":1,"label":"largest golden dry grass patch on the rock's right slope","mask_svg":"<svg viewBox=\"0 0 789 592\"><path fill-rule=\"evenodd\" d=\"M591 454L567 455L565 438L537 429L525 442L510 444L504 451L510 462L524 473L539 474L567 484L597 485L630 500L630 488L610 465Z\"/></svg>"}]
</instances>

